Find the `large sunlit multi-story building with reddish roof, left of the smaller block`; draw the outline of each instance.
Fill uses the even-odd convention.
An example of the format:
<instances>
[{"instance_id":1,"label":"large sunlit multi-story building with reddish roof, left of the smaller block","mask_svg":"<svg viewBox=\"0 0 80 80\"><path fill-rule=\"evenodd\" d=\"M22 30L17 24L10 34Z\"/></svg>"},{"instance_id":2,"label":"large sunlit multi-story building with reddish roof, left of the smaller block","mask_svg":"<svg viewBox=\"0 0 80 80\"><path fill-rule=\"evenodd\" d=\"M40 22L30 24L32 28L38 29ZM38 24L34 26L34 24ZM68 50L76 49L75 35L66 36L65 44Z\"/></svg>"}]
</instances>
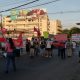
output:
<instances>
[{"instance_id":1,"label":"large sunlit multi-story building with reddish roof, left of the smaller block","mask_svg":"<svg viewBox=\"0 0 80 80\"><path fill-rule=\"evenodd\" d=\"M39 28L41 35L44 31L49 30L49 18L44 10L36 9L30 11L27 15L10 15L3 18L3 26L8 31L24 32L25 37L35 35L34 27Z\"/></svg>"}]
</instances>

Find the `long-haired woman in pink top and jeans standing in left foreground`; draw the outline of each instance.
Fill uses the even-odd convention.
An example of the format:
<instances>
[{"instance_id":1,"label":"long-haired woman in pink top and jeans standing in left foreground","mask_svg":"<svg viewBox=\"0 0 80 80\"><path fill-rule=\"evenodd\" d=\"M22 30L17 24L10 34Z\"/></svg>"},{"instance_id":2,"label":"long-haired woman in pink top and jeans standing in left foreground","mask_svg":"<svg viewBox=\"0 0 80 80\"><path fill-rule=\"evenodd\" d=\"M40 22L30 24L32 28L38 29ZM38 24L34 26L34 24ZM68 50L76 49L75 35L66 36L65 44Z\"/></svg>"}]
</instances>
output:
<instances>
[{"instance_id":1,"label":"long-haired woman in pink top and jeans standing in left foreground","mask_svg":"<svg viewBox=\"0 0 80 80\"><path fill-rule=\"evenodd\" d=\"M7 52L6 57L6 73L9 71L10 61L12 62L13 70L16 71L16 65L15 65L15 54L13 53L13 50L15 49L14 43L12 38L9 38L5 44L5 51Z\"/></svg>"}]
</instances>

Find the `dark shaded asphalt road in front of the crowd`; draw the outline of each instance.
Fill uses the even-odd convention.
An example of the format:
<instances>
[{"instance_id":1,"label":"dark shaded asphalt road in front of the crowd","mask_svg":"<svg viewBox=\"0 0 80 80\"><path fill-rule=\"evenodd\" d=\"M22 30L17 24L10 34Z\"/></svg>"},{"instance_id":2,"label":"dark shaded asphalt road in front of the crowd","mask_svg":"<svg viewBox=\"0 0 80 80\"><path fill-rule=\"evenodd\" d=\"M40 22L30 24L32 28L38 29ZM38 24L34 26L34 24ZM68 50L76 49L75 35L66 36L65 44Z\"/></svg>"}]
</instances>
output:
<instances>
[{"instance_id":1,"label":"dark shaded asphalt road in front of the crowd","mask_svg":"<svg viewBox=\"0 0 80 80\"><path fill-rule=\"evenodd\" d=\"M53 51L52 58L34 57L22 55L16 58L17 71L12 68L8 74L4 73L5 59L0 58L0 80L80 80L80 63L78 55L62 60L57 56L57 50Z\"/></svg>"}]
</instances>

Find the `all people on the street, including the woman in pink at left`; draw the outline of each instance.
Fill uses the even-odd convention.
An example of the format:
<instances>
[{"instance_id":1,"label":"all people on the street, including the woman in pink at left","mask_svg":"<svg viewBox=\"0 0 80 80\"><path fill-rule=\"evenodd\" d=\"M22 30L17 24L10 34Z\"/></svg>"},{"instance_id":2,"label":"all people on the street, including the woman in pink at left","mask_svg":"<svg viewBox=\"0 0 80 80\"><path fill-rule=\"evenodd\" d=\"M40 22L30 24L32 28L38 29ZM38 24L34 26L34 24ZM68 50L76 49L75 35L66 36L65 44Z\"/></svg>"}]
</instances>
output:
<instances>
[{"instance_id":1,"label":"all people on the street, including the woman in pink at left","mask_svg":"<svg viewBox=\"0 0 80 80\"><path fill-rule=\"evenodd\" d=\"M54 41L52 41L49 38L48 39L32 38L31 40L26 39L25 53L28 56L30 56L31 59L33 59L34 56L51 58L54 55L53 53L54 48L57 48L58 56L60 56L61 59L64 60L66 56L71 57L76 50L76 46L77 46L76 42L60 41L58 42L57 47L53 45L53 42ZM20 56L21 48L16 47L14 45L12 38L9 38L7 39L4 47L2 44L2 50L7 53L5 72L8 73L9 71L10 61L12 62L13 70L16 71L15 57ZM67 55L65 54L65 52L67 53Z\"/></svg>"}]
</instances>

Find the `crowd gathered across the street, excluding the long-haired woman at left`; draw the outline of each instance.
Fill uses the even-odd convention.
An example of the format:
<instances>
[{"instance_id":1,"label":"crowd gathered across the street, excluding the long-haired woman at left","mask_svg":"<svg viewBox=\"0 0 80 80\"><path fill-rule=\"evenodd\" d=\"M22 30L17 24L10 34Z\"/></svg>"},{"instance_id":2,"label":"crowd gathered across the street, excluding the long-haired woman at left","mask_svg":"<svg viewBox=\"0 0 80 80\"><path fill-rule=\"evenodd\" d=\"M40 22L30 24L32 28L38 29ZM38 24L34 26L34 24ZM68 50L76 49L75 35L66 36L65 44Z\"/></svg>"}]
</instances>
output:
<instances>
[{"instance_id":1,"label":"crowd gathered across the street, excluding the long-haired woman at left","mask_svg":"<svg viewBox=\"0 0 80 80\"><path fill-rule=\"evenodd\" d=\"M57 47L53 44L54 41L51 39L33 39L31 41L26 41L26 52L30 57L35 55L41 55L44 57L52 57L52 51L54 48L58 49L58 56L61 56L62 59L65 59L65 50L67 51L67 56L71 57L76 49L76 42L71 41L60 41L57 44Z\"/></svg>"}]
</instances>

